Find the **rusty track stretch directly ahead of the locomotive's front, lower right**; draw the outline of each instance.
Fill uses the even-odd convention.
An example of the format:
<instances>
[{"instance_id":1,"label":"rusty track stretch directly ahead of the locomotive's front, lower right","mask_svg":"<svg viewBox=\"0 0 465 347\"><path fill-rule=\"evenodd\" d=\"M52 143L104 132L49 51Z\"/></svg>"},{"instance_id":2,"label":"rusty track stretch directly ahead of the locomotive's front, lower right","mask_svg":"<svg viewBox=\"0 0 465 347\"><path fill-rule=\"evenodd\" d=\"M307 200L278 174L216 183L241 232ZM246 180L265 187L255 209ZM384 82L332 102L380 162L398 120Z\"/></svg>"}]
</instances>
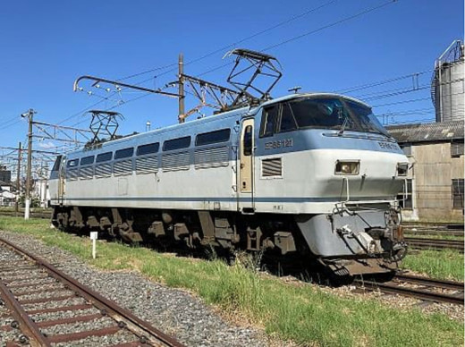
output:
<instances>
[{"instance_id":1,"label":"rusty track stretch directly ahead of the locomotive's front, lower right","mask_svg":"<svg viewBox=\"0 0 465 347\"><path fill-rule=\"evenodd\" d=\"M399 294L419 300L463 305L463 283L436 280L414 275L395 275L392 281L378 283L357 279L354 284L361 290Z\"/></svg>"}]
</instances>

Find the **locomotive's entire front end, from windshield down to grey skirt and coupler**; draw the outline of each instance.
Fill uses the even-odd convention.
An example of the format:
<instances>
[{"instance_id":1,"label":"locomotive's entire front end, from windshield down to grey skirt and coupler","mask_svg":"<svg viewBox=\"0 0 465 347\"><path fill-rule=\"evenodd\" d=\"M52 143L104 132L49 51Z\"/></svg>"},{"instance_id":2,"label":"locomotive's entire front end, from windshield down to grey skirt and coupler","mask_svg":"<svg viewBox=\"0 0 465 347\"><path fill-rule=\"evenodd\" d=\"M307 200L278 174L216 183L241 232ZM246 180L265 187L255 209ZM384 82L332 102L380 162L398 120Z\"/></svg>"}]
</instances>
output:
<instances>
[{"instance_id":1,"label":"locomotive's entire front end, from windshield down to grey skirt and coupler","mask_svg":"<svg viewBox=\"0 0 465 347\"><path fill-rule=\"evenodd\" d=\"M310 252L334 271L391 271L405 252L396 201L408 167L402 149L351 97L274 101L261 113L256 195L279 191L288 202L279 212L295 215ZM263 177L263 163L275 157L282 167L274 182Z\"/></svg>"}]
</instances>

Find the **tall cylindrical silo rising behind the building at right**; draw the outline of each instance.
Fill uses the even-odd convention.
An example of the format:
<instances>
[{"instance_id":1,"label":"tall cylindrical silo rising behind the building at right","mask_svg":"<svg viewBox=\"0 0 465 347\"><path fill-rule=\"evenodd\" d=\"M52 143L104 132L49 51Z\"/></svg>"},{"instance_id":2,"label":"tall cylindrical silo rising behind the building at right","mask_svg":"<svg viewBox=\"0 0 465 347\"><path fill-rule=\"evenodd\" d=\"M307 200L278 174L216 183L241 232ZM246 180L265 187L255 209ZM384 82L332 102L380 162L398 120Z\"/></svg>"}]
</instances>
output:
<instances>
[{"instance_id":1,"label":"tall cylindrical silo rising behind the building at right","mask_svg":"<svg viewBox=\"0 0 465 347\"><path fill-rule=\"evenodd\" d=\"M455 40L435 61L431 97L436 122L459 121L465 117L463 67L463 43Z\"/></svg>"}]
</instances>

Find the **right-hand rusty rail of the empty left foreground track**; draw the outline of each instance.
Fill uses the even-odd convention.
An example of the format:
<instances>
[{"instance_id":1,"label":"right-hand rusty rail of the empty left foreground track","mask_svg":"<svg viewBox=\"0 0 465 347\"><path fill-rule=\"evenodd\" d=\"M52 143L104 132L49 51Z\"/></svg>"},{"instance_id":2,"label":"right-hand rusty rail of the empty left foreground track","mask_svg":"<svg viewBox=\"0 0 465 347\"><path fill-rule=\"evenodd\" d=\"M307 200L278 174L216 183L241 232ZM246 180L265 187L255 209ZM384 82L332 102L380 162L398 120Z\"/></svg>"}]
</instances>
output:
<instances>
[{"instance_id":1,"label":"right-hand rusty rail of the empty left foreground track","mask_svg":"<svg viewBox=\"0 0 465 347\"><path fill-rule=\"evenodd\" d=\"M33 260L38 267L43 267L47 270L47 273L58 280L59 282L65 284L70 290L78 293L82 298L88 300L92 303L97 309L100 309L102 312L105 312L108 316L113 317L116 321L123 321L125 326L134 334L138 335L139 338L144 341L144 343L149 343L154 346L169 346L169 347L185 347L182 343L175 340L173 337L161 332L156 329L154 326L149 325L147 322L143 321L139 317L134 316L129 310L123 309L116 305L113 301L107 300L102 295L97 292L92 291L89 287L80 284L74 280L71 276L64 274L56 267L48 264L45 260L38 258L37 256L31 254L27 250L22 250L17 245L13 244L10 241L4 240L0 237L0 242L3 242L9 248L14 250L17 253L20 253L22 256L30 258ZM4 286L7 288L6 286ZM7 292L8 289L6 289ZM10 295L13 295L10 292ZM31 312L29 312L31 313ZM27 313L24 312L26 317ZM33 322L31 322L34 324ZM47 340L46 340L47 341ZM45 344L49 345L49 344Z\"/></svg>"}]
</instances>

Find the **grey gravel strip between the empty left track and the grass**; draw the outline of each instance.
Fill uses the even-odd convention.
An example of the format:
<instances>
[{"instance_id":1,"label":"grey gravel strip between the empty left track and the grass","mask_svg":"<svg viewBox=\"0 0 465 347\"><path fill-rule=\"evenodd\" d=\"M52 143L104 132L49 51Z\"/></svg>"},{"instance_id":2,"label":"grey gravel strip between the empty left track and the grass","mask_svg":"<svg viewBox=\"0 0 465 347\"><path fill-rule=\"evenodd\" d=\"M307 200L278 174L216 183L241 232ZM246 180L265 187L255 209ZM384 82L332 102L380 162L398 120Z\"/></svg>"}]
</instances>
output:
<instances>
[{"instance_id":1,"label":"grey gravel strip between the empty left track and the grass","mask_svg":"<svg viewBox=\"0 0 465 347\"><path fill-rule=\"evenodd\" d=\"M188 346L276 345L276 342L271 342L262 331L254 327L237 326L227 322L224 317L209 309L202 300L189 292L150 282L134 272L97 271L88 267L79 258L44 245L28 235L0 232L0 236L38 257L45 258L65 274L88 285L107 299L114 300L123 308L130 309L134 315L147 320L165 334L173 335ZM34 305L34 309L41 306ZM124 329L121 334L125 334ZM123 336L119 338L114 336L114 338L115 341L124 341ZM106 345L115 341L89 338L73 345Z\"/></svg>"}]
</instances>

